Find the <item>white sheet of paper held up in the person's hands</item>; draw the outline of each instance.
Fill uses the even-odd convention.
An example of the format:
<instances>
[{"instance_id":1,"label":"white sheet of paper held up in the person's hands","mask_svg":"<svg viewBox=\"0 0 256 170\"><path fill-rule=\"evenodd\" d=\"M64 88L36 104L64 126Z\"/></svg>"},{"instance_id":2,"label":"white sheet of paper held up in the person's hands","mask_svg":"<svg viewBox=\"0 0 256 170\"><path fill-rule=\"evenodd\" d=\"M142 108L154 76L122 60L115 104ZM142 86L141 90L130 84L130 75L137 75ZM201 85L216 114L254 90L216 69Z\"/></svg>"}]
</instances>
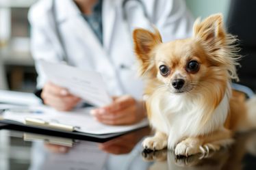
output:
<instances>
[{"instance_id":1,"label":"white sheet of paper held up in the person's hands","mask_svg":"<svg viewBox=\"0 0 256 170\"><path fill-rule=\"evenodd\" d=\"M71 94L79 96L86 102L103 107L112 101L98 72L80 70L63 63L50 63L43 60L39 64L48 81L65 87Z\"/></svg>"}]
</instances>

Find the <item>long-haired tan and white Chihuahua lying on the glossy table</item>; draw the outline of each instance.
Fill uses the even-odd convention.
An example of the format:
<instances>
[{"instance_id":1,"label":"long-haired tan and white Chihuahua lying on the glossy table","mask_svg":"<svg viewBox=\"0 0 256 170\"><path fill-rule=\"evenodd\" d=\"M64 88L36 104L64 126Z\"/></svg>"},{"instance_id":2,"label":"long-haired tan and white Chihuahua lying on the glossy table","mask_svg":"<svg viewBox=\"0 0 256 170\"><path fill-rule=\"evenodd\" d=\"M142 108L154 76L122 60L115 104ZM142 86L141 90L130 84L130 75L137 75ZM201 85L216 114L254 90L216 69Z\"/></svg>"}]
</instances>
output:
<instances>
[{"instance_id":1,"label":"long-haired tan and white Chihuahua lying on the glossy table","mask_svg":"<svg viewBox=\"0 0 256 170\"><path fill-rule=\"evenodd\" d=\"M133 31L144 79L144 99L153 137L146 150L168 147L178 156L205 154L233 143L233 134L255 128L256 99L231 89L238 81L237 38L221 14L194 23L192 38L162 42L157 29ZM253 101L252 101L253 100Z\"/></svg>"}]
</instances>

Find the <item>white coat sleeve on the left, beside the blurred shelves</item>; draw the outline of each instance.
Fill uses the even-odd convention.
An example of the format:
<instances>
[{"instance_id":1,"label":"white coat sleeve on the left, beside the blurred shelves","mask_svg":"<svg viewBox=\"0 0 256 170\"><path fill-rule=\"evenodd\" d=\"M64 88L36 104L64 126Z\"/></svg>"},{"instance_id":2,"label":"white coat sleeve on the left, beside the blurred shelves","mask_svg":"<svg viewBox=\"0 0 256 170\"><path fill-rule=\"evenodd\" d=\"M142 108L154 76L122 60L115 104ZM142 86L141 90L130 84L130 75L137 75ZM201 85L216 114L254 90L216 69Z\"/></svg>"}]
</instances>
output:
<instances>
[{"instance_id":1,"label":"white coat sleeve on the left, beside the blurred shelves","mask_svg":"<svg viewBox=\"0 0 256 170\"><path fill-rule=\"evenodd\" d=\"M29 9L29 23L31 25L31 55L34 58L36 71L38 73L37 88L42 89L47 82L42 68L38 65L40 59L60 62L60 53L54 42L54 32L47 20L47 4L42 1L36 3Z\"/></svg>"}]
</instances>

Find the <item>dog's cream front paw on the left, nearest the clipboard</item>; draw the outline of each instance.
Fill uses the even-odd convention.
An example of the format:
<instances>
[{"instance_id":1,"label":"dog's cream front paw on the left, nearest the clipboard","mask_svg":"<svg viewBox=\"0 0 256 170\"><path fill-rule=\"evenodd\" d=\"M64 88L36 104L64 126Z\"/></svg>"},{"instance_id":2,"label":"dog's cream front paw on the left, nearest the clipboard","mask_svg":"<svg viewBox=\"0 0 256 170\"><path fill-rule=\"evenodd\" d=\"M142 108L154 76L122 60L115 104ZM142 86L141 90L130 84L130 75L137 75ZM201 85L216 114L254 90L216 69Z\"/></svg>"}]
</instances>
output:
<instances>
[{"instance_id":1,"label":"dog's cream front paw on the left, nearest the clipboard","mask_svg":"<svg viewBox=\"0 0 256 170\"><path fill-rule=\"evenodd\" d=\"M167 135L163 132L155 132L155 136L147 137L142 146L147 150L162 150L167 146Z\"/></svg>"}]
</instances>

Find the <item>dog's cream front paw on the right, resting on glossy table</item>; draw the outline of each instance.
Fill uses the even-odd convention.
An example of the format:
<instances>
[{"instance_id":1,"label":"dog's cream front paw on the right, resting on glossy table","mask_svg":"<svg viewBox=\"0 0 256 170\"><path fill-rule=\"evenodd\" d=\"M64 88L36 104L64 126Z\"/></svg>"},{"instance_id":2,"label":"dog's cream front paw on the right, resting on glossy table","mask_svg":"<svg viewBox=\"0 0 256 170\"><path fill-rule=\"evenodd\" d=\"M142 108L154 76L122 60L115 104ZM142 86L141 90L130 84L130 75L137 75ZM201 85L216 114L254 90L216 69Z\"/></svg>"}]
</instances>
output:
<instances>
[{"instance_id":1,"label":"dog's cream front paw on the right, resting on glossy table","mask_svg":"<svg viewBox=\"0 0 256 170\"><path fill-rule=\"evenodd\" d=\"M197 143L191 143L187 140L181 141L175 147L175 154L177 156L188 157L193 154L198 154L199 152L201 152L200 145L198 145Z\"/></svg>"}]
</instances>

